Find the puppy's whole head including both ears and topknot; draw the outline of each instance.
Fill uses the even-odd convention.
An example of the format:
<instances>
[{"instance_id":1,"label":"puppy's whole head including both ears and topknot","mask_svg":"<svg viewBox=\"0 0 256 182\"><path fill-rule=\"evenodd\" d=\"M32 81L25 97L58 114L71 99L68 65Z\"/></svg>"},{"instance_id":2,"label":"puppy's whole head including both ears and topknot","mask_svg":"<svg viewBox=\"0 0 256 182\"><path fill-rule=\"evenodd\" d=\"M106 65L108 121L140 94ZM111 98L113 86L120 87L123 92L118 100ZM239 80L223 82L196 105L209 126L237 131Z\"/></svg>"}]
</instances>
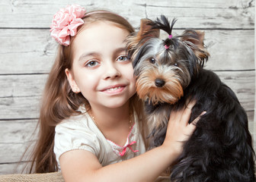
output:
<instances>
[{"instance_id":1,"label":"puppy's whole head including both ears and topknot","mask_svg":"<svg viewBox=\"0 0 256 182\"><path fill-rule=\"evenodd\" d=\"M128 55L133 61L136 89L140 99L153 105L174 104L181 99L191 77L198 73L209 53L203 45L204 33L185 30L181 36L160 39L160 30L171 33L176 20L142 19L140 30L128 37Z\"/></svg>"}]
</instances>

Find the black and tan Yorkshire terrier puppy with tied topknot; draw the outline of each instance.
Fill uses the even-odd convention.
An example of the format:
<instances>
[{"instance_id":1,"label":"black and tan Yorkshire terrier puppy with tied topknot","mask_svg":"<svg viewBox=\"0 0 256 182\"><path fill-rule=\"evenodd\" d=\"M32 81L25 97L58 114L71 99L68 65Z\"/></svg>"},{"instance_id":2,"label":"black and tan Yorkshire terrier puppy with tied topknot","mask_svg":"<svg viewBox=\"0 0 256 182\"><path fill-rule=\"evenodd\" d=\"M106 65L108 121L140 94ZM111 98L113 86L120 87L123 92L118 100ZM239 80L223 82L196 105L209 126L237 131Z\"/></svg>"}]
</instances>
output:
<instances>
[{"instance_id":1,"label":"black and tan Yorkshire terrier puppy with tied topknot","mask_svg":"<svg viewBox=\"0 0 256 182\"><path fill-rule=\"evenodd\" d=\"M190 122L203 111L197 127L174 165L172 182L253 182L254 149L248 118L235 93L219 77L203 68L209 53L204 33L185 30L171 34L176 20L165 16L144 19L138 33L128 38L136 91L145 101L151 146L160 146L171 111L195 100ZM159 31L168 33L159 38Z\"/></svg>"}]
</instances>

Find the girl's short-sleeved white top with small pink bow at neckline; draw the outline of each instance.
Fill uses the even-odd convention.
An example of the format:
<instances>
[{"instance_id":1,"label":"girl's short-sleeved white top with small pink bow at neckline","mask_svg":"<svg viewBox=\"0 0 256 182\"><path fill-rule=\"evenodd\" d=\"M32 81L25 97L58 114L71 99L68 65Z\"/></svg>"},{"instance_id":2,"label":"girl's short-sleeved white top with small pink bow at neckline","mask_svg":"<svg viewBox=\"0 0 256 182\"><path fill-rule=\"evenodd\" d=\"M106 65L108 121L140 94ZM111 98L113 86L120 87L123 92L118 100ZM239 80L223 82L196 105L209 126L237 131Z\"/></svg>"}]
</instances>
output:
<instances>
[{"instance_id":1,"label":"girl's short-sleeved white top with small pink bow at neckline","mask_svg":"<svg viewBox=\"0 0 256 182\"><path fill-rule=\"evenodd\" d=\"M79 108L82 115L75 115L63 120L55 128L54 153L59 165L59 156L73 149L84 149L97 156L102 166L121 162L146 152L145 143L139 133L137 115L135 124L127 137L124 146L118 146L107 140L98 129L85 108ZM134 113L134 112L133 112Z\"/></svg>"}]
</instances>

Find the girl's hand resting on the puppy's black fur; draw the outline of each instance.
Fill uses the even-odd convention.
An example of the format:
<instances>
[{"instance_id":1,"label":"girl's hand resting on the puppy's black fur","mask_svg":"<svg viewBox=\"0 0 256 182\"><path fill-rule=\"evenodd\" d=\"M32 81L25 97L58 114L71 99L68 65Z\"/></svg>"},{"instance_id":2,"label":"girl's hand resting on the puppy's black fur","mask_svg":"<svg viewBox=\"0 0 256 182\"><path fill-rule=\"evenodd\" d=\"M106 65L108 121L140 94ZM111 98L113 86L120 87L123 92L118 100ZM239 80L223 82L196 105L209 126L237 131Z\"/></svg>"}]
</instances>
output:
<instances>
[{"instance_id":1,"label":"girl's hand resting on the puppy's black fur","mask_svg":"<svg viewBox=\"0 0 256 182\"><path fill-rule=\"evenodd\" d=\"M182 152L183 143L187 141L191 134L194 132L197 121L200 120L200 116L206 113L203 111L200 116L188 124L191 115L191 109L195 104L196 102L192 101L188 103L186 108L183 108L180 111L171 112L163 146L171 147L171 150L176 153L177 157Z\"/></svg>"}]
</instances>

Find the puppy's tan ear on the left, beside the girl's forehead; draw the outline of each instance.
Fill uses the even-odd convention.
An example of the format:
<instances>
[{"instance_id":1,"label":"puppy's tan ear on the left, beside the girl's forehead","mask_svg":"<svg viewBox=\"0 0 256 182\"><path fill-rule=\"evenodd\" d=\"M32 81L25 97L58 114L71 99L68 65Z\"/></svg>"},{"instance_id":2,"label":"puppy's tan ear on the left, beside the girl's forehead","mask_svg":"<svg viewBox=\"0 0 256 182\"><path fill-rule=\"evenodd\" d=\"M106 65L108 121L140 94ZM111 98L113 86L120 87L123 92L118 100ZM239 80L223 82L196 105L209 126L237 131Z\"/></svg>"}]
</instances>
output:
<instances>
[{"instance_id":1,"label":"puppy's tan ear on the left, beside the girl's forehead","mask_svg":"<svg viewBox=\"0 0 256 182\"><path fill-rule=\"evenodd\" d=\"M127 51L128 56L130 58L133 57L133 53L139 48L139 46L143 45L148 39L159 37L160 30L152 29L154 22L149 19L141 19L140 20L140 28L139 32L132 33L130 36L126 38L127 41Z\"/></svg>"}]
</instances>

